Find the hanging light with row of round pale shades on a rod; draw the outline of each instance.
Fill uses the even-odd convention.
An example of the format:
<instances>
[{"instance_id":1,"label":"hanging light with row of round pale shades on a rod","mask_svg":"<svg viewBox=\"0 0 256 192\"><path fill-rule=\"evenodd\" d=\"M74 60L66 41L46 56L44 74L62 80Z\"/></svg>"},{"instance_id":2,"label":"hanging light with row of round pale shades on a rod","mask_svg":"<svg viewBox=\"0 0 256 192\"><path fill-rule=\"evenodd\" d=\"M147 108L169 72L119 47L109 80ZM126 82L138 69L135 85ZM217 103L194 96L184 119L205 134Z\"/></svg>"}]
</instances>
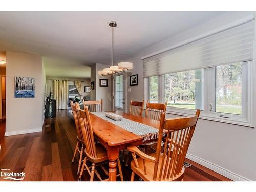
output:
<instances>
[{"instance_id":1,"label":"hanging light with row of round pale shades on a rod","mask_svg":"<svg viewBox=\"0 0 256 192\"><path fill-rule=\"evenodd\" d=\"M133 63L131 62L119 62L118 66L114 66L114 28L117 27L117 23L112 21L109 23L109 26L112 28L112 62L109 68L104 68L103 70L98 71L98 75L102 76L133 69Z\"/></svg>"}]
</instances>

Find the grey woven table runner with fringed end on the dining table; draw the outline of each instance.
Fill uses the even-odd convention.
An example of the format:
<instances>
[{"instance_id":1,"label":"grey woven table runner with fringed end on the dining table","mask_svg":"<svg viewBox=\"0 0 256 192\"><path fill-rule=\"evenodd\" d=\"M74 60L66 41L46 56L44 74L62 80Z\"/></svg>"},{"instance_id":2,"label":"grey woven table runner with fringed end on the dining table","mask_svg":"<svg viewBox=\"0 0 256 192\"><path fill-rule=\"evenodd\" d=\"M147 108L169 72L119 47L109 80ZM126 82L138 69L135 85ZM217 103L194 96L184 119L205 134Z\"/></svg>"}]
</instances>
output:
<instances>
[{"instance_id":1,"label":"grey woven table runner with fringed end on the dining table","mask_svg":"<svg viewBox=\"0 0 256 192\"><path fill-rule=\"evenodd\" d=\"M142 123L138 123L136 121L132 121L130 119L122 118L121 121L115 121L106 117L105 112L92 112L92 114L96 115L97 117L104 119L108 122L111 122L121 128L132 132L136 135L140 135L142 137L142 142L148 142L150 140L156 140L158 138L158 129L148 126Z\"/></svg>"}]
</instances>

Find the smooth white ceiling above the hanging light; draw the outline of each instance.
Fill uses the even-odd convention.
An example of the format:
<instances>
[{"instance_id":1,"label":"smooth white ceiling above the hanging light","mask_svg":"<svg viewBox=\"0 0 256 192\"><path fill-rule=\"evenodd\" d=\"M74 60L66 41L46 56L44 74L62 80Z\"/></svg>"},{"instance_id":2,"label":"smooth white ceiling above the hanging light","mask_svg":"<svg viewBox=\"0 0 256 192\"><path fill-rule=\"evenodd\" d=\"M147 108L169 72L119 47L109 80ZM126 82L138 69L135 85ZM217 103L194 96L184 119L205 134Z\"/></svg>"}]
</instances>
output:
<instances>
[{"instance_id":1,"label":"smooth white ceiling above the hanging light","mask_svg":"<svg viewBox=\"0 0 256 192\"><path fill-rule=\"evenodd\" d=\"M0 49L41 55L47 76L90 77L90 64L111 63L209 22L223 11L0 12ZM74 76L76 75L76 76Z\"/></svg>"}]
</instances>

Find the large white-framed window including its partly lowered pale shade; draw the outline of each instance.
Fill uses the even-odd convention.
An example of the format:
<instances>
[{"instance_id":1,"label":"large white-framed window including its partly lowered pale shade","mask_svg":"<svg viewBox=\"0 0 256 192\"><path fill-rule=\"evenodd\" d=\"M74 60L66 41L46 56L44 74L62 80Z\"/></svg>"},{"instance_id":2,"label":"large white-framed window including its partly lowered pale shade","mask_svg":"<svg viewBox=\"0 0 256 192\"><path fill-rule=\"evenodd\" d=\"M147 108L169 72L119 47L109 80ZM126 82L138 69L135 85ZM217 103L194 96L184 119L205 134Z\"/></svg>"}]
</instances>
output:
<instances>
[{"instance_id":1,"label":"large white-framed window including its partly lowered pale shade","mask_svg":"<svg viewBox=\"0 0 256 192\"><path fill-rule=\"evenodd\" d=\"M167 113L254 127L254 36L251 16L142 57L144 99L157 90Z\"/></svg>"}]
</instances>

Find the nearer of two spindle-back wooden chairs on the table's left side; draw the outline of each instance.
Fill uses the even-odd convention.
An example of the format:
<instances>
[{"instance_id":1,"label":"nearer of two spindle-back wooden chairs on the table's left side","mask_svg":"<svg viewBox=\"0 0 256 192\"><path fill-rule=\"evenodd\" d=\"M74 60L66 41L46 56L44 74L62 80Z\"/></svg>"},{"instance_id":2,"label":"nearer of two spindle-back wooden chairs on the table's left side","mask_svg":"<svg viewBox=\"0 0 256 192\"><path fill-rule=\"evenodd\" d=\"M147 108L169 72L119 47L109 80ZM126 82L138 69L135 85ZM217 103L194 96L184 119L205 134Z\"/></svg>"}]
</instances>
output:
<instances>
[{"instance_id":1,"label":"nearer of two spindle-back wooden chairs on the table's left side","mask_svg":"<svg viewBox=\"0 0 256 192\"><path fill-rule=\"evenodd\" d=\"M102 180L100 174L95 169L96 166L101 166L104 173L106 175L109 175L108 170L106 170L105 167L102 165L103 163L108 162L108 155L106 154L106 149L100 143L95 143L88 107L86 106L84 110L78 109L77 114L79 125L81 127L82 135L84 138L84 145L86 146L86 157L84 158L78 181L81 180L83 170L87 170L87 172L91 176L90 181L93 181L94 173L100 181L108 181L109 179ZM92 163L92 166L88 167L88 165L86 164L87 161L90 161ZM122 169L119 158L117 159L117 165L119 169L119 174L117 176L120 176L121 181L123 181Z\"/></svg>"}]
</instances>

